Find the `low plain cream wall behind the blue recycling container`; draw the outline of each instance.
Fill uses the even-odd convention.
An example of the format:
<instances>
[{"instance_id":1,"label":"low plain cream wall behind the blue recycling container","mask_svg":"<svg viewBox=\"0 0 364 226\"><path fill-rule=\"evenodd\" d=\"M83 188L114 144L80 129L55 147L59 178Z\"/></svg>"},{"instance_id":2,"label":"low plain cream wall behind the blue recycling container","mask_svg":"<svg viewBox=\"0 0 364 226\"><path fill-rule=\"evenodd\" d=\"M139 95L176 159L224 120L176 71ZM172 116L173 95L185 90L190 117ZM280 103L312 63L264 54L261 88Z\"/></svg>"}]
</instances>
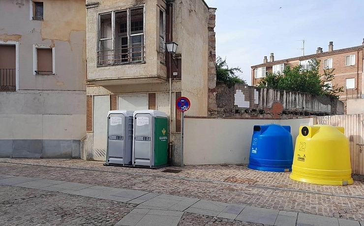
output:
<instances>
[{"instance_id":1,"label":"low plain cream wall behind the blue recycling container","mask_svg":"<svg viewBox=\"0 0 364 226\"><path fill-rule=\"evenodd\" d=\"M184 119L184 165L248 163L254 125L272 119ZM301 125L316 124L316 118L281 119L273 123L291 126L295 144Z\"/></svg>"}]
</instances>

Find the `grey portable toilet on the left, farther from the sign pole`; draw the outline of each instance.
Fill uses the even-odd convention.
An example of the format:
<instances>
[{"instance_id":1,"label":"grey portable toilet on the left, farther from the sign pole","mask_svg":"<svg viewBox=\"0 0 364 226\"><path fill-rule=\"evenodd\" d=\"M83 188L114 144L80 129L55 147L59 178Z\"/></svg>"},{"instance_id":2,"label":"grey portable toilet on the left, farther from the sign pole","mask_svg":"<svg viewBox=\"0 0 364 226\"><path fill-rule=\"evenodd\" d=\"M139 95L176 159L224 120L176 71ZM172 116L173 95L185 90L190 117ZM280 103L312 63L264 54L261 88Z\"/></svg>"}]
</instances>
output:
<instances>
[{"instance_id":1,"label":"grey portable toilet on the left, farther from the sign pole","mask_svg":"<svg viewBox=\"0 0 364 226\"><path fill-rule=\"evenodd\" d=\"M132 165L133 111L109 111L106 165Z\"/></svg>"}]
</instances>

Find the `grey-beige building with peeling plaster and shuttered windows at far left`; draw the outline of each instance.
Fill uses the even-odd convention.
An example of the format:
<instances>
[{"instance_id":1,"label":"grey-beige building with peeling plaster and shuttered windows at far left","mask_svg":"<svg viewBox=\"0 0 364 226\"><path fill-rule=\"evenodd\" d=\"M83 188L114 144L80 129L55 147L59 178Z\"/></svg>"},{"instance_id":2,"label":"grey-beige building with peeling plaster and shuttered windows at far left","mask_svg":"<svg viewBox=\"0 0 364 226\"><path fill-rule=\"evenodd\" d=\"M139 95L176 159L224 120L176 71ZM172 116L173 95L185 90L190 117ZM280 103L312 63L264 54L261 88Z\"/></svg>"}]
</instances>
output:
<instances>
[{"instance_id":1,"label":"grey-beige building with peeling plaster and shuttered windows at far left","mask_svg":"<svg viewBox=\"0 0 364 226\"><path fill-rule=\"evenodd\" d=\"M79 158L84 0L0 1L0 157Z\"/></svg>"}]
</instances>

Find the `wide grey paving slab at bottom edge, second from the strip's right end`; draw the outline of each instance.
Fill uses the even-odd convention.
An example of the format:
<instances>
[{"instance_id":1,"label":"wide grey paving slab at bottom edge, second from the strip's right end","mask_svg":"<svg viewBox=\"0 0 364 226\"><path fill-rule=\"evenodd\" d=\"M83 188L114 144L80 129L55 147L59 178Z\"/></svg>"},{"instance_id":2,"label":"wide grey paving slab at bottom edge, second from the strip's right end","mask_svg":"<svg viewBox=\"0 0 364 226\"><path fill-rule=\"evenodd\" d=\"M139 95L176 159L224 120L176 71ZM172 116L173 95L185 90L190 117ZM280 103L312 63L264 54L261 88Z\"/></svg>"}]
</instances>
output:
<instances>
[{"instance_id":1,"label":"wide grey paving slab at bottom edge, second from the strip's right end","mask_svg":"<svg viewBox=\"0 0 364 226\"><path fill-rule=\"evenodd\" d=\"M334 217L323 217L305 213L298 214L297 226L338 226L339 223L337 218Z\"/></svg>"}]
</instances>

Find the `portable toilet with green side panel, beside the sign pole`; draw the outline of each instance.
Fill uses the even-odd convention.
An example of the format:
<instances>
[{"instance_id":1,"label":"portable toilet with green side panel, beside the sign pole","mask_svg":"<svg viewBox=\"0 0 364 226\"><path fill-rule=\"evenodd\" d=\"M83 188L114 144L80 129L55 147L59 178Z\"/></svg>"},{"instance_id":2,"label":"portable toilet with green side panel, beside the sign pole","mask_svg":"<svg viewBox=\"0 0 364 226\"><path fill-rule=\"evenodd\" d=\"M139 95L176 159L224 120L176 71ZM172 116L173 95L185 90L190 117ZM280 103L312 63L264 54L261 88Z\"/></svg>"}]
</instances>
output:
<instances>
[{"instance_id":1,"label":"portable toilet with green side panel, beside the sign pole","mask_svg":"<svg viewBox=\"0 0 364 226\"><path fill-rule=\"evenodd\" d=\"M168 119L164 112L134 112L133 166L159 168L167 165Z\"/></svg>"}]
</instances>

